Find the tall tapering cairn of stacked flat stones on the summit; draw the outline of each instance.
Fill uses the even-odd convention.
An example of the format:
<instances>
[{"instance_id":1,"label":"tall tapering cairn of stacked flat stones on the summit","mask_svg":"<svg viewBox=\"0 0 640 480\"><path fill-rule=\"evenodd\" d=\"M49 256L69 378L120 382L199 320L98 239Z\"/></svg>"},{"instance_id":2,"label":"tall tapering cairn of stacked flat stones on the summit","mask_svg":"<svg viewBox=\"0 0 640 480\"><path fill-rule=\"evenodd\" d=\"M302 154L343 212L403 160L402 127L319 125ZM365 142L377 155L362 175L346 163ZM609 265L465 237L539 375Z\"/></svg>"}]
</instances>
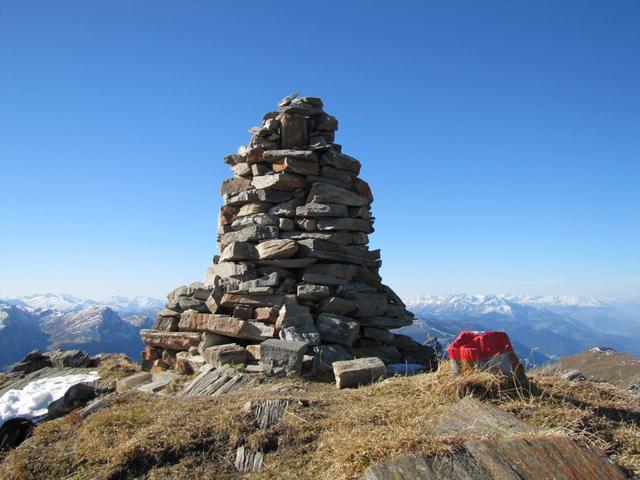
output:
<instances>
[{"instance_id":1,"label":"tall tapering cairn of stacked flat stones on the summit","mask_svg":"<svg viewBox=\"0 0 640 480\"><path fill-rule=\"evenodd\" d=\"M297 94L225 158L219 256L204 282L167 296L142 330L145 369L243 364L267 375L330 370L337 361L434 362L433 349L390 329L413 314L382 283L369 185L334 143L338 121Z\"/></svg>"}]
</instances>

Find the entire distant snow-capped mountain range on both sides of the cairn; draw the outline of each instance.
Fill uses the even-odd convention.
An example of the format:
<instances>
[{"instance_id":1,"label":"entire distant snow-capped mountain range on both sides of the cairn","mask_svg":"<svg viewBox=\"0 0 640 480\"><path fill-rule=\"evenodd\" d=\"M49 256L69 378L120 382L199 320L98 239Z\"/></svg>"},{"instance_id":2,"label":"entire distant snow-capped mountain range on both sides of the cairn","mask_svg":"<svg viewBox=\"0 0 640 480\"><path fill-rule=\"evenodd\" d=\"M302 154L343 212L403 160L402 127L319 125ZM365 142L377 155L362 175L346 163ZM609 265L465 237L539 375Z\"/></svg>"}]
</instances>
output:
<instances>
[{"instance_id":1,"label":"entire distant snow-capped mountain range on both sides of the cairn","mask_svg":"<svg viewBox=\"0 0 640 480\"><path fill-rule=\"evenodd\" d=\"M433 335L446 346L461 330L504 330L518 354L534 364L601 346L640 355L640 297L458 294L405 302L416 320L402 331L419 341ZM149 297L0 298L0 370L35 348L124 352L137 358L138 332L152 324L163 305Z\"/></svg>"}]
</instances>

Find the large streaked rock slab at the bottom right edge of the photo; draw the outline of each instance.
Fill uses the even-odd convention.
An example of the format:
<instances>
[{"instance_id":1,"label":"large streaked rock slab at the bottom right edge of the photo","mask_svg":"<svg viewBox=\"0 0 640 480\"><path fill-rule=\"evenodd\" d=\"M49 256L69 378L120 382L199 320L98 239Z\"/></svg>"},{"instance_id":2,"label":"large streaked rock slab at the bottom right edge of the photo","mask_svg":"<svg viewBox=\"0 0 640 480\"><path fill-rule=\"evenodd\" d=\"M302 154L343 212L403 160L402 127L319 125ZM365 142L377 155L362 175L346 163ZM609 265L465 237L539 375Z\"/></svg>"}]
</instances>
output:
<instances>
[{"instance_id":1,"label":"large streaked rock slab at the bottom right edge of the photo","mask_svg":"<svg viewBox=\"0 0 640 480\"><path fill-rule=\"evenodd\" d=\"M470 440L440 457L401 457L370 467L364 480L623 480L599 451L566 436Z\"/></svg>"}]
</instances>

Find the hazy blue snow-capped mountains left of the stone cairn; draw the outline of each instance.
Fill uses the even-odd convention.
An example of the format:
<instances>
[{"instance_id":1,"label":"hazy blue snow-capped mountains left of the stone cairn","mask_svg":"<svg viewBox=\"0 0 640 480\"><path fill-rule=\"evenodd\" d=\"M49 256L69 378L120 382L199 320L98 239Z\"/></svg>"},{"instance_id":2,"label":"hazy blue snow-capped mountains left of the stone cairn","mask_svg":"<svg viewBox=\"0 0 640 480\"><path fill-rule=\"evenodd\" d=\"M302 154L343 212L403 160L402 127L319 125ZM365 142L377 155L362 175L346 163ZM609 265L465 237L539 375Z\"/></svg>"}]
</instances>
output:
<instances>
[{"instance_id":1,"label":"hazy blue snow-capped mountains left of the stone cairn","mask_svg":"<svg viewBox=\"0 0 640 480\"><path fill-rule=\"evenodd\" d=\"M138 334L149 328L162 300L34 294L0 298L0 370L34 349L80 348L90 353L122 352L137 358Z\"/></svg>"}]
</instances>

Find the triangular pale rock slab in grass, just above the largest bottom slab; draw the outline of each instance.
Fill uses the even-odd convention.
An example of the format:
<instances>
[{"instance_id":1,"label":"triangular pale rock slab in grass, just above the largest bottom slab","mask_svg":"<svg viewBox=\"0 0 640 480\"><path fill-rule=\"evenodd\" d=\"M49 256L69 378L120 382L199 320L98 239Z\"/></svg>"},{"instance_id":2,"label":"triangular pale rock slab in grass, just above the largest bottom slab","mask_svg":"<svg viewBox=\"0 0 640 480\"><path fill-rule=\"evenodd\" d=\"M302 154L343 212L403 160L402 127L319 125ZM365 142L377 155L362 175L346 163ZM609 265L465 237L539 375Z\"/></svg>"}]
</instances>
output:
<instances>
[{"instance_id":1,"label":"triangular pale rock slab in grass, just above the largest bottom slab","mask_svg":"<svg viewBox=\"0 0 640 480\"><path fill-rule=\"evenodd\" d=\"M439 435L504 436L536 433L539 429L515 415L468 396L447 410L438 420Z\"/></svg>"}]
</instances>

